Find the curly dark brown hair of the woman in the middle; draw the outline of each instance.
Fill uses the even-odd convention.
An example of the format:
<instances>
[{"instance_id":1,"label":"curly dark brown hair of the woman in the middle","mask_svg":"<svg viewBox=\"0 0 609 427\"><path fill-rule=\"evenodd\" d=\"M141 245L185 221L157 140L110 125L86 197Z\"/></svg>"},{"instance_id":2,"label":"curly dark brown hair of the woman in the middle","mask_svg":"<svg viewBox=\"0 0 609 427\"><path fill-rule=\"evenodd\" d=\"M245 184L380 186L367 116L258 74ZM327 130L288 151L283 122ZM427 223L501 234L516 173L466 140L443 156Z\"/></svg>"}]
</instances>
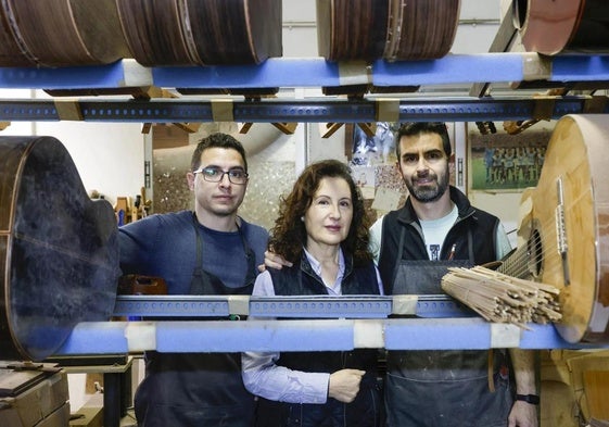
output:
<instances>
[{"instance_id":1,"label":"curly dark brown hair of the woman in the middle","mask_svg":"<svg viewBox=\"0 0 609 427\"><path fill-rule=\"evenodd\" d=\"M351 189L353 219L343 250L353 255L354 264L361 265L372 260L368 249L370 241L370 218L364 208L364 198L351 175L350 167L338 160L323 160L308 165L296 179L292 191L280 198L279 216L270 230L269 249L286 260L301 261L306 244L307 233L301 217L313 202L322 178L343 178Z\"/></svg>"}]
</instances>

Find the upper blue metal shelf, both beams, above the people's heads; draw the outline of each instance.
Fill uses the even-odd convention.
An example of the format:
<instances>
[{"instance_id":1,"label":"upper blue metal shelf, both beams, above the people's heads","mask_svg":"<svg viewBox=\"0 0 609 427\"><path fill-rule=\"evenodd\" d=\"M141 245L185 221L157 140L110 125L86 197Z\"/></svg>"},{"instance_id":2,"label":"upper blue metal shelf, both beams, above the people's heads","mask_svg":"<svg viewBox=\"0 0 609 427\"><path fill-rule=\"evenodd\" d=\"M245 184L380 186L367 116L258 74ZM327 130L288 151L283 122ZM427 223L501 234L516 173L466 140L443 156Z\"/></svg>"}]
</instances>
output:
<instances>
[{"instance_id":1,"label":"upper blue metal shelf, both beams, above the people's heads","mask_svg":"<svg viewBox=\"0 0 609 427\"><path fill-rule=\"evenodd\" d=\"M87 90L120 91L158 87L190 90L255 90L286 88L376 87L381 89L424 85L462 85L481 81L609 83L609 56L558 55L536 53L454 54L439 60L373 63L328 62L321 58L275 58L259 65L144 67L134 60L103 66L62 68L0 68L0 88L66 90L66 95L87 95ZM381 90L382 91L382 90ZM89 93L90 95L90 93ZM358 99L259 99L226 97L232 102L238 122L372 122L390 118L494 121L526 120L547 103L557 118L571 113L607 113L606 102L592 103L591 97L538 99L513 90L508 96L440 98L424 93L375 95ZM215 97L218 98L218 97ZM604 97L605 98L605 97ZM71 104L77 114L63 114ZM211 122L217 118L217 100L203 97L177 99L0 100L0 121L84 120L103 122ZM599 106L600 105L600 106ZM226 109L225 109L226 111ZM390 113L386 113L386 112ZM548 111L548 109L544 109ZM537 117L538 118L538 117Z\"/></svg>"}]
</instances>

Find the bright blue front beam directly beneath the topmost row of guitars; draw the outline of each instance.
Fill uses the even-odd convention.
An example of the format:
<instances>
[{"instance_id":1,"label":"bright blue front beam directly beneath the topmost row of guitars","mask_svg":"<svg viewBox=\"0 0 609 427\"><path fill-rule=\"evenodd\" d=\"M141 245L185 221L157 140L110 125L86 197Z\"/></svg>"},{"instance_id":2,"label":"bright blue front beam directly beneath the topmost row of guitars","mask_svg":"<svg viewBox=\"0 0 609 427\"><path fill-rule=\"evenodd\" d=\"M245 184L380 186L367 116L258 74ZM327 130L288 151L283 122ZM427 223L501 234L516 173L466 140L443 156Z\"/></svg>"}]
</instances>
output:
<instances>
[{"instance_id":1,"label":"bright blue front beam directly beneath the topmost row of guitars","mask_svg":"<svg viewBox=\"0 0 609 427\"><path fill-rule=\"evenodd\" d=\"M531 72L533 70L533 72ZM538 71L537 71L538 70ZM144 67L134 60L110 65L0 68L1 88L111 89L132 86L192 89L422 86L468 83L607 81L608 55L534 53L448 54L437 60L329 62L271 58L258 65Z\"/></svg>"}]
</instances>

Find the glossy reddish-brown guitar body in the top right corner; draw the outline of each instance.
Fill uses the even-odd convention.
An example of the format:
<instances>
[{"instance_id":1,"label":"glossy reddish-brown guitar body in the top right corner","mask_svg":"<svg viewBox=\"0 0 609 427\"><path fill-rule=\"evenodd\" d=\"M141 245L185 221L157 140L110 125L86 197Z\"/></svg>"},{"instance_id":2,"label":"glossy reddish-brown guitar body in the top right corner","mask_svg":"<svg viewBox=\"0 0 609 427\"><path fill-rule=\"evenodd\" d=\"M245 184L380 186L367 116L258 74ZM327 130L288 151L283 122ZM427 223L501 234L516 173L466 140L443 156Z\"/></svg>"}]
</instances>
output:
<instances>
[{"instance_id":1,"label":"glossy reddish-brown guitar body in the top right corner","mask_svg":"<svg viewBox=\"0 0 609 427\"><path fill-rule=\"evenodd\" d=\"M513 0L512 12L529 52L609 52L606 0Z\"/></svg>"}]
</instances>

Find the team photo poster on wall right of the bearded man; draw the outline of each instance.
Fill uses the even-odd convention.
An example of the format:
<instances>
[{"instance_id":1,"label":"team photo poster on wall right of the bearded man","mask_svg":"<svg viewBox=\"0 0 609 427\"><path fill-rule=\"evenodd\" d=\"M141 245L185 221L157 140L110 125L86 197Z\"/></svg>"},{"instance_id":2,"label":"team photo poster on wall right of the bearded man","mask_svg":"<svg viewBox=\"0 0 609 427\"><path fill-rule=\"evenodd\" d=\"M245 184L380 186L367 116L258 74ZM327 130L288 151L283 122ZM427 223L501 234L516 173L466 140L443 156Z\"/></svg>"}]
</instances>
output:
<instances>
[{"instance_id":1,"label":"team photo poster on wall right of the bearded man","mask_svg":"<svg viewBox=\"0 0 609 427\"><path fill-rule=\"evenodd\" d=\"M482 135L475 124L468 125L472 190L522 191L537 185L551 129L531 127L510 135L498 123L496 133Z\"/></svg>"}]
</instances>

